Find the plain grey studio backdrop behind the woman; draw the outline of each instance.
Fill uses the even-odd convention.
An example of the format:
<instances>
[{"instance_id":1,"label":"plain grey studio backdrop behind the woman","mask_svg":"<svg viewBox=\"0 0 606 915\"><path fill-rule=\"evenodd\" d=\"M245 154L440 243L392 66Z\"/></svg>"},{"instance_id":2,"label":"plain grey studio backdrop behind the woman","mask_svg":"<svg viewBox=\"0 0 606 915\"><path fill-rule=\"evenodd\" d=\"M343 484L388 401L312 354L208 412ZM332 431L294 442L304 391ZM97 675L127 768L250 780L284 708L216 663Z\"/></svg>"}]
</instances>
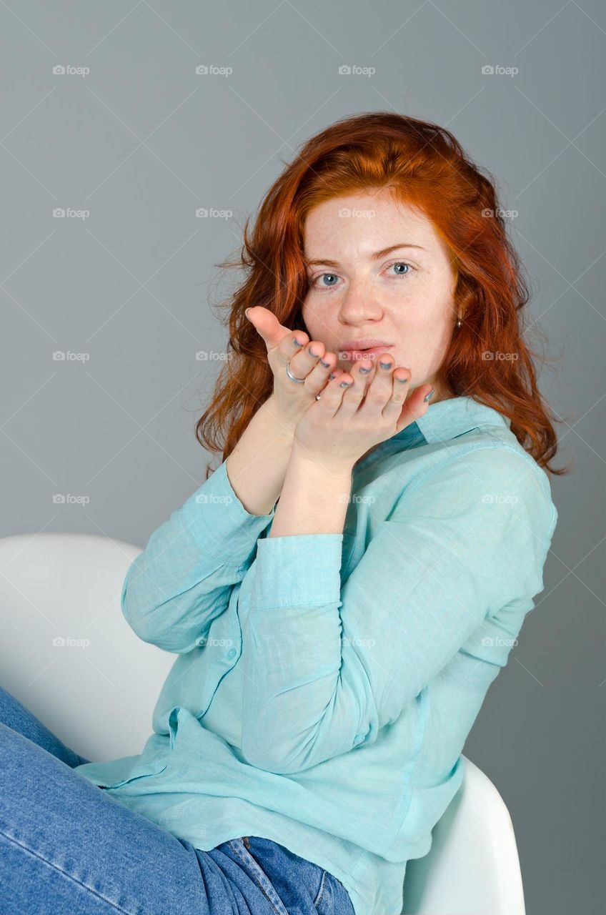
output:
<instances>
[{"instance_id":1,"label":"plain grey studio backdrop behind the woman","mask_svg":"<svg viewBox=\"0 0 606 915\"><path fill-rule=\"evenodd\" d=\"M529 915L595 910L603 4L12 0L0 4L0 34L3 536L82 531L145 545L200 485L207 455L194 427L227 339L215 304L229 289L215 264L238 251L245 216L302 140L349 113L395 110L448 127L498 178L545 335L540 383L562 420L559 463L573 473L552 479L545 591L465 753L512 813ZM53 73L68 65L90 72ZM198 75L200 65L233 72ZM340 75L342 65L376 72ZM57 504L57 493L90 501Z\"/></svg>"}]
</instances>

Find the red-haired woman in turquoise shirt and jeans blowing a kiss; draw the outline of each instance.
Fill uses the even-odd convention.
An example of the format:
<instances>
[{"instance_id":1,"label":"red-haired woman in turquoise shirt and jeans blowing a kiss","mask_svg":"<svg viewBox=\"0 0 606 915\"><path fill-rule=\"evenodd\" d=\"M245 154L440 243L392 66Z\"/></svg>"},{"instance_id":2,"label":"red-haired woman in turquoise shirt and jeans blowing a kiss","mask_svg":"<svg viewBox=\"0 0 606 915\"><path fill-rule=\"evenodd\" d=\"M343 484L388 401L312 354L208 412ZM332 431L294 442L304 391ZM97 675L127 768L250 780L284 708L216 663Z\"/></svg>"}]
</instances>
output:
<instances>
[{"instance_id":1,"label":"red-haired woman in turquoise shirt and jeans blowing a kiss","mask_svg":"<svg viewBox=\"0 0 606 915\"><path fill-rule=\"evenodd\" d=\"M456 139L332 124L244 245L198 424L222 464L124 581L133 630L179 655L153 734L90 762L5 694L10 911L398 915L543 589L564 471Z\"/></svg>"}]
</instances>

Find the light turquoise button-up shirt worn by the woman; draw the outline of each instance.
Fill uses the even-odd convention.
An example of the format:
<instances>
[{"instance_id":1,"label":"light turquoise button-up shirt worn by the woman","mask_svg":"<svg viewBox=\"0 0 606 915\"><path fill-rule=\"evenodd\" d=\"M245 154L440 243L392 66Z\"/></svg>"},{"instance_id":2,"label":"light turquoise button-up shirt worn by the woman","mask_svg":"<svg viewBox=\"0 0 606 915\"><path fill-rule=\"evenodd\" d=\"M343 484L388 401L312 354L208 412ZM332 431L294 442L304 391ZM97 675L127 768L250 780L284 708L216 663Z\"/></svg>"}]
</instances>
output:
<instances>
[{"instance_id":1,"label":"light turquoise button-up shirt worn by the woman","mask_svg":"<svg viewBox=\"0 0 606 915\"><path fill-rule=\"evenodd\" d=\"M179 655L140 756L82 776L209 850L241 835L398 915L460 787L557 522L546 472L470 397L360 461L343 533L268 537L226 462L151 534L124 617Z\"/></svg>"}]
</instances>

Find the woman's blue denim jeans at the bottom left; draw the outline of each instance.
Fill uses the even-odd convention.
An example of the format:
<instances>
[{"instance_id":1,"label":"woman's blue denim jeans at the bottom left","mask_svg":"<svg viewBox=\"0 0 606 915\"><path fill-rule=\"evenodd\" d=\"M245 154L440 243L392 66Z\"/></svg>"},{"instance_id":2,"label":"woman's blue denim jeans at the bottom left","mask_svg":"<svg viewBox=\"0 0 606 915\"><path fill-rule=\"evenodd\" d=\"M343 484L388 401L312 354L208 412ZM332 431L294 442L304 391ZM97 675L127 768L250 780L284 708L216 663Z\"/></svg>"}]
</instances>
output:
<instances>
[{"instance_id":1,"label":"woman's blue denim jeans at the bottom left","mask_svg":"<svg viewBox=\"0 0 606 915\"><path fill-rule=\"evenodd\" d=\"M0 687L4 915L354 915L341 881L284 845L194 848L72 771L90 761Z\"/></svg>"}]
</instances>

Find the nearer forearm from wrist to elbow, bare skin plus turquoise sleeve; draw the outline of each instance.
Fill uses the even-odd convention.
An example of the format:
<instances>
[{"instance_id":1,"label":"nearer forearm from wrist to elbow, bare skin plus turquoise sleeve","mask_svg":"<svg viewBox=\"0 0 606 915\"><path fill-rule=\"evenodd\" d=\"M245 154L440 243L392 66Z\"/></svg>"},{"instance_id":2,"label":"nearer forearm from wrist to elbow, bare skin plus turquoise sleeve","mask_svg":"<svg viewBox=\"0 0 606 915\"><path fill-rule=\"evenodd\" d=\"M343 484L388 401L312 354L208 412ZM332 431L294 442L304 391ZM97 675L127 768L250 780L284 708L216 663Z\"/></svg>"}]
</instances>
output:
<instances>
[{"instance_id":1,"label":"nearer forearm from wrist to elbow, bare skin plus turquoise sleeve","mask_svg":"<svg viewBox=\"0 0 606 915\"><path fill-rule=\"evenodd\" d=\"M319 761L329 732L336 755L367 730L357 702L341 690L341 552L351 487L352 468L329 466L294 443L271 532L257 544L241 617L242 748L261 769L304 770Z\"/></svg>"}]
</instances>

